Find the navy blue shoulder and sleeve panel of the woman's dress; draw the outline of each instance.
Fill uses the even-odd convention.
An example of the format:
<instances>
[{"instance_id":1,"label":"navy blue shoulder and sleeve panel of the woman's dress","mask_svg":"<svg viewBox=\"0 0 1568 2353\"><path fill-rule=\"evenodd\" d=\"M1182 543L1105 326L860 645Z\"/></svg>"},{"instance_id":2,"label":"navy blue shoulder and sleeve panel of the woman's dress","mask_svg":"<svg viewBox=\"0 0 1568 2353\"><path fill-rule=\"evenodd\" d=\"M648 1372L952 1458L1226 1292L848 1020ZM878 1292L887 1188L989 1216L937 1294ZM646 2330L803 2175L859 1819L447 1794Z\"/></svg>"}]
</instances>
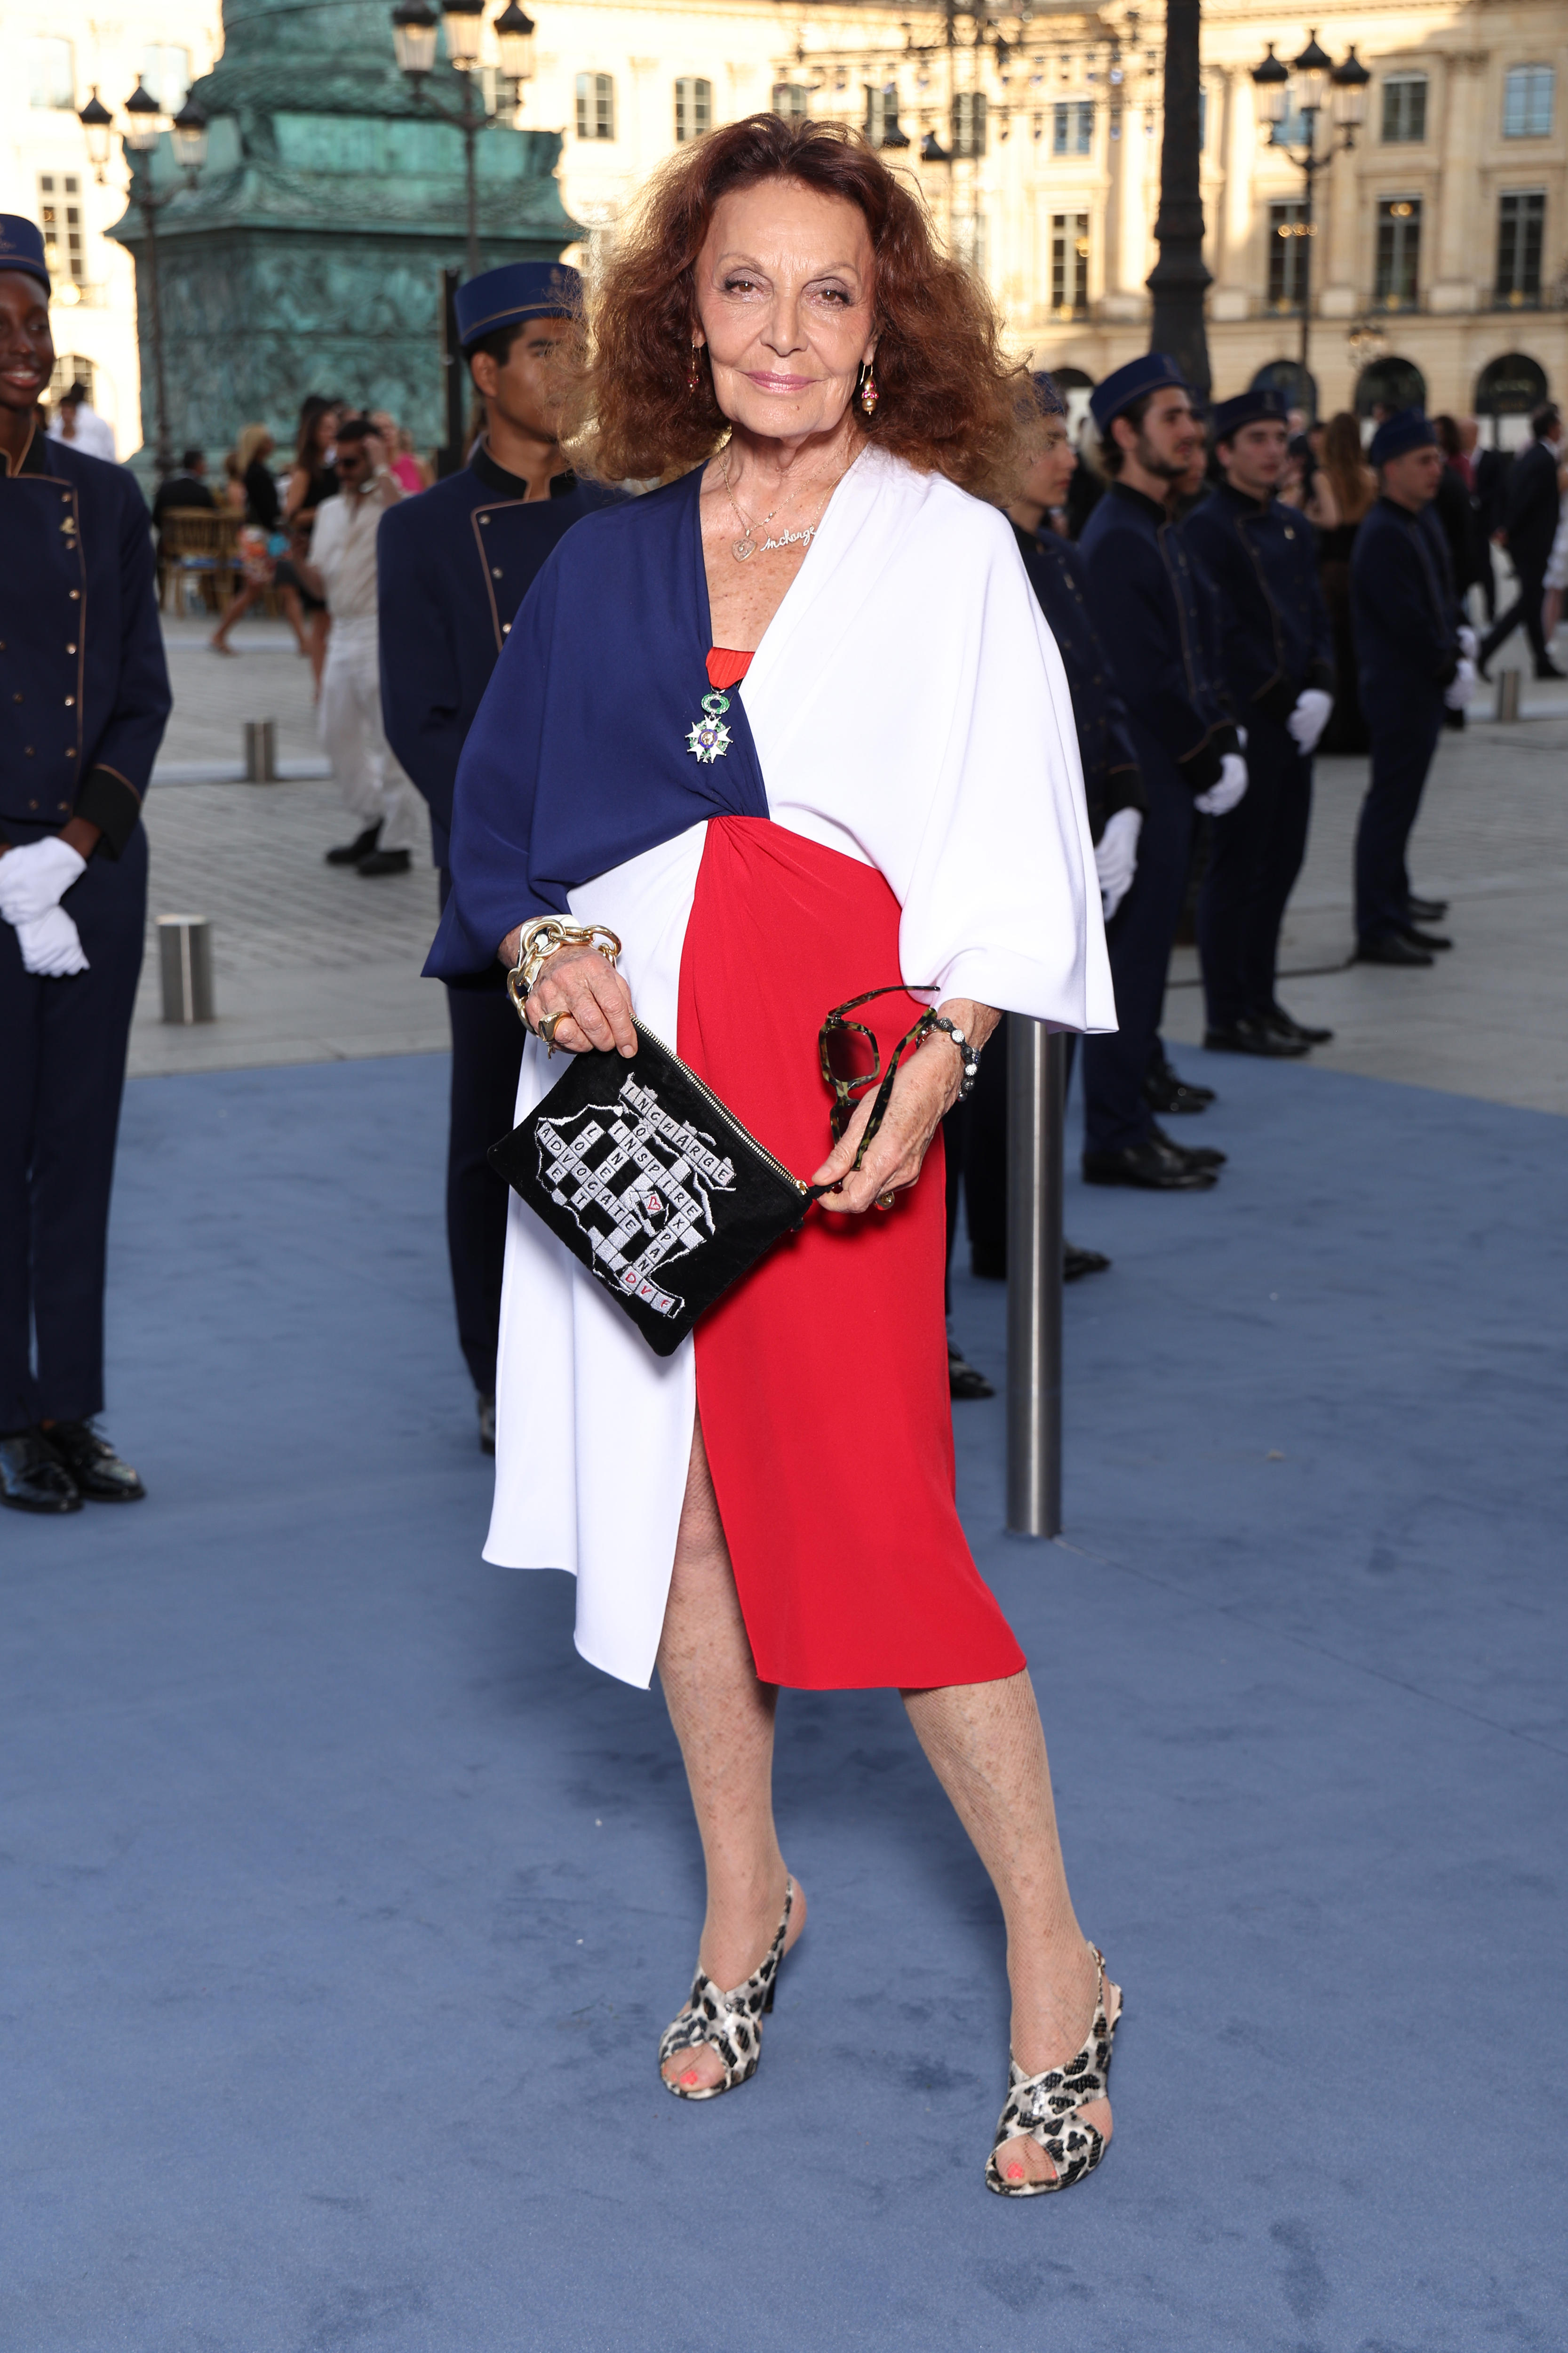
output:
<instances>
[{"instance_id":1,"label":"navy blue shoulder and sleeve panel of the woman's dress","mask_svg":"<svg viewBox=\"0 0 1568 2353\"><path fill-rule=\"evenodd\" d=\"M738 694L719 760L686 744L712 692L701 487L588 515L524 598L458 765L425 972L482 972L512 925L705 816L769 814Z\"/></svg>"}]
</instances>

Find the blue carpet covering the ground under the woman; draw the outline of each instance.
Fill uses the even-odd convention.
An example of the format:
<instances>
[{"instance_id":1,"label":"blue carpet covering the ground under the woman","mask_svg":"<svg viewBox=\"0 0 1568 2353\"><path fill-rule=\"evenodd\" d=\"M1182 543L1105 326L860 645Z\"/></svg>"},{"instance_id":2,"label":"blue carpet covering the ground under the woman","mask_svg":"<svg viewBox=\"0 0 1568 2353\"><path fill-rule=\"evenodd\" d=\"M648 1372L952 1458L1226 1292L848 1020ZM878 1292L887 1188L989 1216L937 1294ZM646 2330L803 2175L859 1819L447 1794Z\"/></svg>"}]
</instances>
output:
<instances>
[{"instance_id":1,"label":"blue carpet covering the ground under the woman","mask_svg":"<svg viewBox=\"0 0 1568 2353\"><path fill-rule=\"evenodd\" d=\"M757 2082L658 2089L679 1762L480 1562L444 1082L129 1089L153 1494L0 1529L7 2353L1561 2348L1568 1122L1227 1064L1218 1193L1072 1188L1067 1544L999 1534L999 1402L961 1487L1128 2024L1100 2177L1006 2205L891 1694L785 1697L811 1929Z\"/></svg>"}]
</instances>

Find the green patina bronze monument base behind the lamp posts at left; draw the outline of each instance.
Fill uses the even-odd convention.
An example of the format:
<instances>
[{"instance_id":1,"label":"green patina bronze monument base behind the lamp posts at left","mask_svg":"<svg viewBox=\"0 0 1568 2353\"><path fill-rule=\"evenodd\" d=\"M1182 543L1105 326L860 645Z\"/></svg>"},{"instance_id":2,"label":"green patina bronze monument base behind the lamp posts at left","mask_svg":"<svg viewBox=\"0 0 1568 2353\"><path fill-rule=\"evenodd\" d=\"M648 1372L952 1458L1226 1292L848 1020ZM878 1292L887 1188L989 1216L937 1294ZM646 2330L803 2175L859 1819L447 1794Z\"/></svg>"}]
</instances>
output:
<instances>
[{"instance_id":1,"label":"green patina bronze monument base behind the lamp posts at left","mask_svg":"<svg viewBox=\"0 0 1568 2353\"><path fill-rule=\"evenodd\" d=\"M292 449L306 393L386 407L421 447L447 435L442 271L463 268L463 134L421 111L393 56L388 0L226 0L226 47L193 89L207 165L181 186L150 155L169 438L223 449L266 424ZM444 61L430 92L461 111ZM562 207L557 132L475 141L480 268L552 261L581 235ZM136 169L148 169L139 158ZM153 440L146 226L136 254L143 440Z\"/></svg>"}]
</instances>

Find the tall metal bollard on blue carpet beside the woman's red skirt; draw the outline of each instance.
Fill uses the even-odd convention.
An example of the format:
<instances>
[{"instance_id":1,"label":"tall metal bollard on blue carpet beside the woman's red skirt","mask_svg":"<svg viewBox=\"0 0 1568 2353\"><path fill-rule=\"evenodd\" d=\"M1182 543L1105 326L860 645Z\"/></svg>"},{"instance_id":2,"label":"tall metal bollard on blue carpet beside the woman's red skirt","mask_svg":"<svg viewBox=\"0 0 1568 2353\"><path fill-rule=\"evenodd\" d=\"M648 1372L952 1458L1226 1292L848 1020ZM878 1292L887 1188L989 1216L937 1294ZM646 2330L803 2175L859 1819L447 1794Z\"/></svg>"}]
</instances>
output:
<instances>
[{"instance_id":1,"label":"tall metal bollard on blue carpet beside the woman's red skirt","mask_svg":"<svg viewBox=\"0 0 1568 2353\"><path fill-rule=\"evenodd\" d=\"M1009 1014L1006 1525L1063 1532L1063 1111L1067 1040Z\"/></svg>"}]
</instances>

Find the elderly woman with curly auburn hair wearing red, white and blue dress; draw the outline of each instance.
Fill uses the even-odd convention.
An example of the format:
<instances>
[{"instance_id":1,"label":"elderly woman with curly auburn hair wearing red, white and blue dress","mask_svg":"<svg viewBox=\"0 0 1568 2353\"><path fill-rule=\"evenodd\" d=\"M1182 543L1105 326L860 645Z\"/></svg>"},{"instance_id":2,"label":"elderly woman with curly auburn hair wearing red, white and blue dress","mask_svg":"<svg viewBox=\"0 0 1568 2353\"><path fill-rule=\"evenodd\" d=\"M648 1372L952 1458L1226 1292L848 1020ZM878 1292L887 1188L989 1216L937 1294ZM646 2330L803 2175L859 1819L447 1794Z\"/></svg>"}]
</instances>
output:
<instances>
[{"instance_id":1,"label":"elderly woman with curly auburn hair wearing red, white and blue dress","mask_svg":"<svg viewBox=\"0 0 1568 2353\"><path fill-rule=\"evenodd\" d=\"M708 1864L661 2042L679 2099L752 2075L806 1918L773 1828L778 1685L903 1692L1006 1915L985 2179L1039 2195L1110 2139L1121 1995L954 1508L938 1141L1001 1007L1114 1024L1063 666L971 496L1004 492L1027 381L882 160L776 115L665 167L590 329L581 461L665 487L576 525L517 614L430 969L510 965L550 913L609 927L618 969L557 948L531 1031L632 1054L635 1007L832 1191L668 1358L512 1202L487 1558L574 1569L583 1657L644 1687L658 1666ZM818 1028L877 988L856 1019L882 1071L907 1047L891 1106L863 1148L863 1089L823 1155ZM520 1118L552 1075L531 1042Z\"/></svg>"}]
</instances>

